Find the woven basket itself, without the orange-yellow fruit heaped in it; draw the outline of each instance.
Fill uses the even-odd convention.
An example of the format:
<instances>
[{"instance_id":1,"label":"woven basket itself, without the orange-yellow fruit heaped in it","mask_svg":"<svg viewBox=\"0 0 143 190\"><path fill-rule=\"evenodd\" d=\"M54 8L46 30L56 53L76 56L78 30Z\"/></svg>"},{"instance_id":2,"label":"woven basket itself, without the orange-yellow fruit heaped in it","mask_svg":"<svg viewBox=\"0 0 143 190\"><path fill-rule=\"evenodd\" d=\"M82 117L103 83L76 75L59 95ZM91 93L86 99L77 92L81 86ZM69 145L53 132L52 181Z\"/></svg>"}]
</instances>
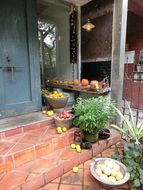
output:
<instances>
[{"instance_id":1,"label":"woven basket itself, without the orange-yellow fruit heaped in it","mask_svg":"<svg viewBox=\"0 0 143 190\"><path fill-rule=\"evenodd\" d=\"M63 98L51 98L49 96L45 96L50 106L53 108L64 108L67 104L69 96L64 94Z\"/></svg>"}]
</instances>

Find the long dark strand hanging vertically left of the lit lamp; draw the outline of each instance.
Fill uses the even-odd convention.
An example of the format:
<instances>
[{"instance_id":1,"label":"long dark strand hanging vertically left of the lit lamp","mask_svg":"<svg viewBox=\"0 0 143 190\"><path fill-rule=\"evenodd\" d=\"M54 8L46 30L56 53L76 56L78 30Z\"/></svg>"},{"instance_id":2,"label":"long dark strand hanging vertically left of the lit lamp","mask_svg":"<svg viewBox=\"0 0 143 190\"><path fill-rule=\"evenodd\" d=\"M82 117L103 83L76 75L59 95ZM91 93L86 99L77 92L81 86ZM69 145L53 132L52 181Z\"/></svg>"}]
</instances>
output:
<instances>
[{"instance_id":1,"label":"long dark strand hanging vertically left of the lit lamp","mask_svg":"<svg viewBox=\"0 0 143 190\"><path fill-rule=\"evenodd\" d=\"M77 63L77 10L75 7L70 14L70 63Z\"/></svg>"}]
</instances>

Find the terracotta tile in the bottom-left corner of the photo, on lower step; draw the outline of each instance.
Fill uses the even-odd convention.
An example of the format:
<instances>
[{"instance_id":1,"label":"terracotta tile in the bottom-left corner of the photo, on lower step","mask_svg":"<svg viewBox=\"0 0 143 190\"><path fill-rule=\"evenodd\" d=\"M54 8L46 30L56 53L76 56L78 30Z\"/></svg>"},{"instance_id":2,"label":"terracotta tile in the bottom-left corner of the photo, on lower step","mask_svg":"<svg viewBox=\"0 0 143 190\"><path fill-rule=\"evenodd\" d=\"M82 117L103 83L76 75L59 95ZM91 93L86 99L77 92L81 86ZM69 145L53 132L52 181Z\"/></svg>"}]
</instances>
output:
<instances>
[{"instance_id":1,"label":"terracotta tile in the bottom-left corner of the photo, on lower step","mask_svg":"<svg viewBox=\"0 0 143 190\"><path fill-rule=\"evenodd\" d=\"M23 183L27 177L25 172L12 171L0 180L0 190L10 190Z\"/></svg>"}]
</instances>

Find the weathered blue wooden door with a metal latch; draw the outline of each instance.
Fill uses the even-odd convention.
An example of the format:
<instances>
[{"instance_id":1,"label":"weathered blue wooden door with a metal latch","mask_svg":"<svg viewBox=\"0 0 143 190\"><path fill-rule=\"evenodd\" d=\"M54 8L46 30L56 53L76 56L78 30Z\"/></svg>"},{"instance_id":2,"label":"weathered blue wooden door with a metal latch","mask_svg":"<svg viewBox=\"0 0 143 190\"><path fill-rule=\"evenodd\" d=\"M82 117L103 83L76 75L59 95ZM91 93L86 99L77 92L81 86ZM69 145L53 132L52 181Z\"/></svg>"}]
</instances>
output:
<instances>
[{"instance_id":1,"label":"weathered blue wooden door with a metal latch","mask_svg":"<svg viewBox=\"0 0 143 190\"><path fill-rule=\"evenodd\" d=\"M0 118L40 109L34 0L0 0Z\"/></svg>"}]
</instances>

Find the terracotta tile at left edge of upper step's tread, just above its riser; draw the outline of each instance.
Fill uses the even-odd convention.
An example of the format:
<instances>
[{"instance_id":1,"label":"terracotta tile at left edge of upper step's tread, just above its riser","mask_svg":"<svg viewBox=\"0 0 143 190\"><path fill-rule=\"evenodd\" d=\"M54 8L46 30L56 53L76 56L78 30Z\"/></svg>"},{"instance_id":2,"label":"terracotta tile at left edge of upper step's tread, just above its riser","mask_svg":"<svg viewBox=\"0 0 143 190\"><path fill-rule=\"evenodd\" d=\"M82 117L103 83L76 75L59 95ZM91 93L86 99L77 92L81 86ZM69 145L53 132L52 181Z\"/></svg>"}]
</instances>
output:
<instances>
[{"instance_id":1,"label":"terracotta tile at left edge of upper step's tread, just above its riser","mask_svg":"<svg viewBox=\"0 0 143 190\"><path fill-rule=\"evenodd\" d=\"M5 155L14 145L14 142L0 141L0 155Z\"/></svg>"}]
</instances>

